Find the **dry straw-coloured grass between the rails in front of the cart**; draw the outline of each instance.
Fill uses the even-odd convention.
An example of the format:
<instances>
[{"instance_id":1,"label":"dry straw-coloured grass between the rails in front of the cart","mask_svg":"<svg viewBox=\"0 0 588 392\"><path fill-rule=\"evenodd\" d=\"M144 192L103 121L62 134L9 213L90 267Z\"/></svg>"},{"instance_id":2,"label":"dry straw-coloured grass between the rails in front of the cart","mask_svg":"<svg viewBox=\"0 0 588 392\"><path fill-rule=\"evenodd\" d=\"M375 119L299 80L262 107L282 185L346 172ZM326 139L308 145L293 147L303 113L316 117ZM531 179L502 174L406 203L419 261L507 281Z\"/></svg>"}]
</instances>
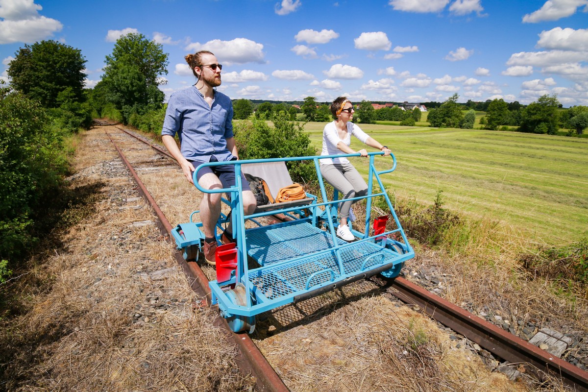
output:
<instances>
[{"instance_id":1,"label":"dry straw-coloured grass between the rails in front of the cart","mask_svg":"<svg viewBox=\"0 0 588 392\"><path fill-rule=\"evenodd\" d=\"M456 343L422 314L376 296L258 346L292 391L527 390Z\"/></svg>"}]
</instances>

